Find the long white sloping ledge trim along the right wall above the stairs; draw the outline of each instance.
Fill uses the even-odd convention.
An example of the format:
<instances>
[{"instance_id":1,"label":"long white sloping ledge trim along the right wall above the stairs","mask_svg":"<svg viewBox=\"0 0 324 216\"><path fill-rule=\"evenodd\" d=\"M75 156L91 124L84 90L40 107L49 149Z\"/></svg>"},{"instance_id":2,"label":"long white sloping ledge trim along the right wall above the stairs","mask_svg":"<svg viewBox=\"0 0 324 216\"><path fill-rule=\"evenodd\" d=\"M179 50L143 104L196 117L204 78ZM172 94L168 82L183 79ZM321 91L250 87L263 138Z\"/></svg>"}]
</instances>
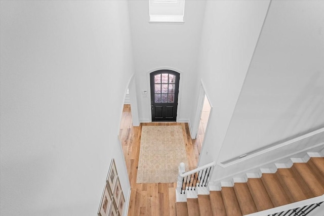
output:
<instances>
[{"instance_id":1,"label":"long white sloping ledge trim along the right wall above the stairs","mask_svg":"<svg viewBox=\"0 0 324 216\"><path fill-rule=\"evenodd\" d=\"M234 164L236 164L236 163L240 163L240 162L242 162L242 161L246 161L246 160L249 160L249 159L251 159L251 158L254 158L254 157L260 156L260 155L262 155L262 154L266 154L266 153L268 153L268 152L270 152L270 151L273 151L273 150L275 150L275 149L279 149L279 148L282 148L282 147L288 146L288 145L290 145L290 144L292 144L292 143L295 143L295 142L301 141L301 140L303 140L303 139L306 139L306 138L312 137L312 136L314 136L314 135L317 135L317 134L320 134L320 133L323 133L323 132L324 132L324 127L319 128L319 129L317 129L317 130L315 130L315 131L313 131L313 132L310 132L310 133L308 133L308 134L305 134L305 135L299 136L299 137L297 137L297 138L291 139L291 140L289 140L289 141L286 141L286 142L280 143L280 144L278 144L278 145L271 146L271 147L269 147L269 148L266 148L266 149L263 149L263 150L261 150L261 151L255 152L255 153L253 153L253 154L250 154L250 155L247 154L247 156L245 156L245 157L242 157L242 158L239 158L239 159L236 159L236 160L231 160L231 161L229 161L229 162L226 162L226 161L224 161L224 162L218 162L217 164L218 164L219 166L221 166L221 167L228 167L228 166L234 165ZM228 161L228 160L227 160L227 161Z\"/></svg>"}]
</instances>

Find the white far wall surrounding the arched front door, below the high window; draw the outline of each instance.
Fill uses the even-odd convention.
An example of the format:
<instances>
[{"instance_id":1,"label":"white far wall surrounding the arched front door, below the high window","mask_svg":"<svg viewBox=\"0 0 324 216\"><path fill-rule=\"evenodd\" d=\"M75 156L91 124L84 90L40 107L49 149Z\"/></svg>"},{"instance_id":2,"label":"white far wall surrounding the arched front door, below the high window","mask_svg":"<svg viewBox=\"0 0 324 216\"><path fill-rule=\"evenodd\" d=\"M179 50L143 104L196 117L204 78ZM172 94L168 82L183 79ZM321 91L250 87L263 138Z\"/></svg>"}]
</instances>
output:
<instances>
[{"instance_id":1,"label":"white far wall surrounding the arched front door, below the high window","mask_svg":"<svg viewBox=\"0 0 324 216\"><path fill-rule=\"evenodd\" d=\"M177 121L190 121L196 94L196 63L205 1L186 1L184 24L149 24L149 3L129 1L140 121L151 121L148 72L180 71Z\"/></svg>"}]
</instances>

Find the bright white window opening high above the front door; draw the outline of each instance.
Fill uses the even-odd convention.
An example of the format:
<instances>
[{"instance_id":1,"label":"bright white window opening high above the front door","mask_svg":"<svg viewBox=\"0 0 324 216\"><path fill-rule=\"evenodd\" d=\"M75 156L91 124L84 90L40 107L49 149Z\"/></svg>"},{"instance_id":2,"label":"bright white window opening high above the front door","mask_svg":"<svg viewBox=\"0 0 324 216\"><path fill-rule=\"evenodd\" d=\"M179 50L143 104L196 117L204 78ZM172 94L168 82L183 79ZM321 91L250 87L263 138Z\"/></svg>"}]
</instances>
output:
<instances>
[{"instance_id":1,"label":"bright white window opening high above the front door","mask_svg":"<svg viewBox=\"0 0 324 216\"><path fill-rule=\"evenodd\" d=\"M149 0L150 23L184 23L185 0Z\"/></svg>"}]
</instances>

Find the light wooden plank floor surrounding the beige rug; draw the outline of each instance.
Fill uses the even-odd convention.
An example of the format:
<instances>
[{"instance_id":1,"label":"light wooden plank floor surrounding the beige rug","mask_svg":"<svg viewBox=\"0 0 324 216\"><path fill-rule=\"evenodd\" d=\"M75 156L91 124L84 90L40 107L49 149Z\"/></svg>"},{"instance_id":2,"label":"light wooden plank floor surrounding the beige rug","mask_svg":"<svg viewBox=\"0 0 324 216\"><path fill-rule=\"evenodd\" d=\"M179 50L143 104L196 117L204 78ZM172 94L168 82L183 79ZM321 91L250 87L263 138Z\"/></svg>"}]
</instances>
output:
<instances>
[{"instance_id":1,"label":"light wooden plank floor surrounding the beige rug","mask_svg":"<svg viewBox=\"0 0 324 216\"><path fill-rule=\"evenodd\" d=\"M128 215L176 215L176 183L137 184L137 166L140 153L140 141L143 125L181 125L186 145L189 169L197 166L201 149L199 139L190 138L187 123L152 122L132 125L130 105L124 105L123 117L120 123L119 138L123 147L128 176L131 183L131 198ZM201 129L199 129L200 131ZM199 132L198 132L199 134Z\"/></svg>"}]
</instances>

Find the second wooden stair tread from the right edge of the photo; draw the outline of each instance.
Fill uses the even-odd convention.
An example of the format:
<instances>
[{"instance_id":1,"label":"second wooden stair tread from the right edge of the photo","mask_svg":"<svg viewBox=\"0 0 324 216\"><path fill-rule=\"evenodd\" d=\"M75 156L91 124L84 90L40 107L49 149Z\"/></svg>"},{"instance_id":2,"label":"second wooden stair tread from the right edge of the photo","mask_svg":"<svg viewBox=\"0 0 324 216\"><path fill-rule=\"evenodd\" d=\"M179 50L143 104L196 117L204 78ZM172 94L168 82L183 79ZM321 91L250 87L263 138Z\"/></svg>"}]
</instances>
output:
<instances>
[{"instance_id":1,"label":"second wooden stair tread from the right edge of the photo","mask_svg":"<svg viewBox=\"0 0 324 216\"><path fill-rule=\"evenodd\" d=\"M306 185L311 190L313 196L321 196L324 194L324 188L313 174L312 169L307 163L294 163L293 168L296 169L302 177Z\"/></svg>"}]
</instances>

